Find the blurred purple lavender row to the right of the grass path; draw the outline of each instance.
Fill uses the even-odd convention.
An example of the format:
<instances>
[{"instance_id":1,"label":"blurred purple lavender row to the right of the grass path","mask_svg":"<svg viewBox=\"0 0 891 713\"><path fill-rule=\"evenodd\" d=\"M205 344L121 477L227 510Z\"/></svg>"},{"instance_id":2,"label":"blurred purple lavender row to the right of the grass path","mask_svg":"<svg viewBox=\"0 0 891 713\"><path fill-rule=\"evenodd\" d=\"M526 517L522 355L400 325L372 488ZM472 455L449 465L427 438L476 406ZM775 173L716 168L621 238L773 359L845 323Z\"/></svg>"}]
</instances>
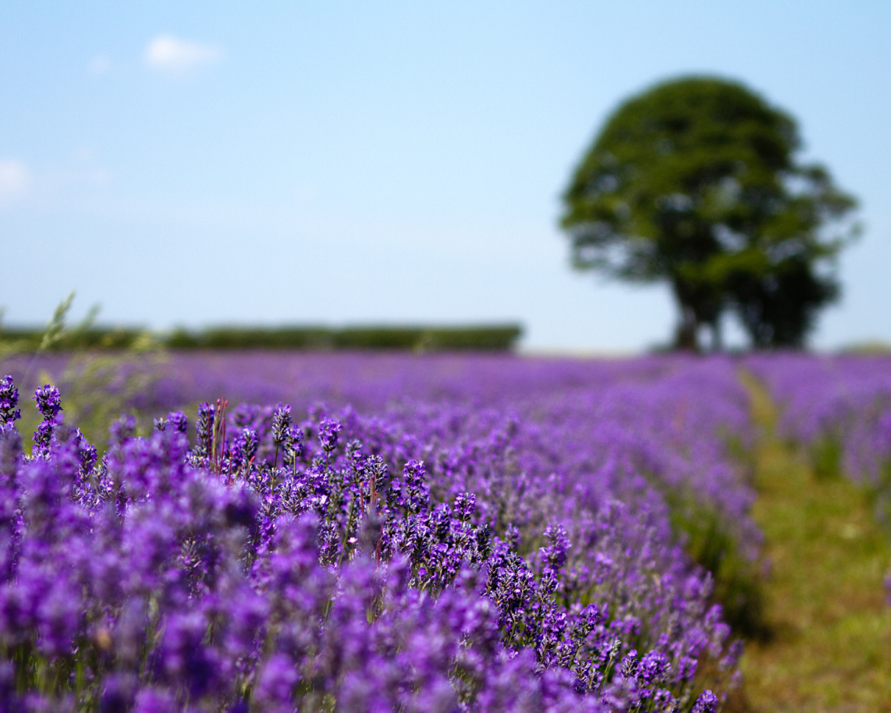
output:
<instances>
[{"instance_id":1,"label":"blurred purple lavender row to the right of the grass path","mask_svg":"<svg viewBox=\"0 0 891 713\"><path fill-rule=\"evenodd\" d=\"M747 368L780 406L783 437L822 477L846 475L874 496L891 528L891 356L750 356Z\"/></svg>"}]
</instances>

